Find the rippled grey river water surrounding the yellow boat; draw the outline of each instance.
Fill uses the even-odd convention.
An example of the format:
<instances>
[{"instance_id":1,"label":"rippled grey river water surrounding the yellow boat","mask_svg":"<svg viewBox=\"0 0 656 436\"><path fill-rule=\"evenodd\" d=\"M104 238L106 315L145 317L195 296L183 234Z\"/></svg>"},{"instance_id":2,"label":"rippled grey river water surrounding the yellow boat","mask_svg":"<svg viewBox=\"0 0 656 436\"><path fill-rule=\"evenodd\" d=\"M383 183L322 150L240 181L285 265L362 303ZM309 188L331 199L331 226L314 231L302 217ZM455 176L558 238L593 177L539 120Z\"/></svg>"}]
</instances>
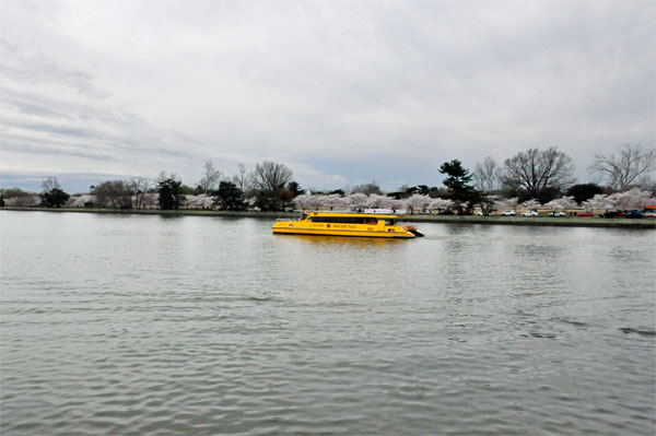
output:
<instances>
[{"instance_id":1,"label":"rippled grey river water surrounding the yellow boat","mask_svg":"<svg viewBox=\"0 0 656 436\"><path fill-rule=\"evenodd\" d=\"M0 212L2 435L653 435L653 231Z\"/></svg>"}]
</instances>

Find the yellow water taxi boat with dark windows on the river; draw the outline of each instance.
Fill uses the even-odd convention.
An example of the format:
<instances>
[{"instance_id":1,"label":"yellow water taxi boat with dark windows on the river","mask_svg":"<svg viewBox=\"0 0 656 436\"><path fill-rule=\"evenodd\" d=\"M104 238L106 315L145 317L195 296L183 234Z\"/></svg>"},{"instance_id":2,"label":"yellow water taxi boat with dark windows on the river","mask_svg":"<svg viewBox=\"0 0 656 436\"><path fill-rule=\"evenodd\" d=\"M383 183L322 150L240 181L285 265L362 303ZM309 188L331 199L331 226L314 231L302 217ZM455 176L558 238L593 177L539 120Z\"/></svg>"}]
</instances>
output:
<instances>
[{"instance_id":1,"label":"yellow water taxi boat with dark windows on the river","mask_svg":"<svg viewBox=\"0 0 656 436\"><path fill-rule=\"evenodd\" d=\"M278 220L277 234L413 238L423 236L412 225L400 225L402 213L389 209L362 212L303 212L297 220Z\"/></svg>"}]
</instances>

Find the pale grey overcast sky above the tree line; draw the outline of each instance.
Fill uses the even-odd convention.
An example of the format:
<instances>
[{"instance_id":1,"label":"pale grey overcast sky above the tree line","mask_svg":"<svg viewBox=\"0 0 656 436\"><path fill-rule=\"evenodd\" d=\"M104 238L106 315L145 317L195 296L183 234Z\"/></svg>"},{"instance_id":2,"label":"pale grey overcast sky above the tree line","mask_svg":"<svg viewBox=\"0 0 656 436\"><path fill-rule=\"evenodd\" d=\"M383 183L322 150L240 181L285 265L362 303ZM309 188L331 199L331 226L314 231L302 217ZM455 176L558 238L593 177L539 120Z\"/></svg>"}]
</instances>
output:
<instances>
[{"instance_id":1,"label":"pale grey overcast sky above the tree line","mask_svg":"<svg viewBox=\"0 0 656 436\"><path fill-rule=\"evenodd\" d=\"M0 186L204 161L303 187L438 185L558 145L655 143L654 1L3 0Z\"/></svg>"}]
</instances>

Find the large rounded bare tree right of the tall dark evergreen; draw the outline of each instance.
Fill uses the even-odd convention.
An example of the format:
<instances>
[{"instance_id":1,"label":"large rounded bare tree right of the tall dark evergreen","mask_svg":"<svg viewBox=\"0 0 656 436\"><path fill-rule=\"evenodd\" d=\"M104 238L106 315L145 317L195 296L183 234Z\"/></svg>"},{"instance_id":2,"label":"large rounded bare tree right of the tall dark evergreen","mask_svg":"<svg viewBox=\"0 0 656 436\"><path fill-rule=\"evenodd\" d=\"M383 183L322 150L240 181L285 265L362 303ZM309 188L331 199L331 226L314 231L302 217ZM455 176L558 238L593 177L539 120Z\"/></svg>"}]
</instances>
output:
<instances>
[{"instance_id":1,"label":"large rounded bare tree right of the tall dark evergreen","mask_svg":"<svg viewBox=\"0 0 656 436\"><path fill-rule=\"evenodd\" d=\"M572 157L550 146L529 149L507 158L504 163L503 184L511 189L526 189L534 198L548 189L563 189L573 182Z\"/></svg>"}]
</instances>

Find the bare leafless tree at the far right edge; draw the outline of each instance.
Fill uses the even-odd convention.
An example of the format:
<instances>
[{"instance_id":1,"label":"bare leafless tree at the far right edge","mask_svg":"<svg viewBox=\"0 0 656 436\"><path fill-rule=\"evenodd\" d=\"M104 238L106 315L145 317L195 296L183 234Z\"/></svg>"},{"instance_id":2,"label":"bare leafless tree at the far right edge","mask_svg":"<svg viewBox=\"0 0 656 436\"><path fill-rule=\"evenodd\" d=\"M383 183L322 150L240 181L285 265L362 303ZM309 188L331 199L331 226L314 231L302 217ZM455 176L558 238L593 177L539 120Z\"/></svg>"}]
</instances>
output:
<instances>
[{"instance_id":1,"label":"bare leafless tree at the far right edge","mask_svg":"<svg viewBox=\"0 0 656 436\"><path fill-rule=\"evenodd\" d=\"M641 144L622 144L616 153L595 154L589 170L597 173L617 190L623 191L641 176L656 169L656 149L645 149Z\"/></svg>"}]
</instances>

